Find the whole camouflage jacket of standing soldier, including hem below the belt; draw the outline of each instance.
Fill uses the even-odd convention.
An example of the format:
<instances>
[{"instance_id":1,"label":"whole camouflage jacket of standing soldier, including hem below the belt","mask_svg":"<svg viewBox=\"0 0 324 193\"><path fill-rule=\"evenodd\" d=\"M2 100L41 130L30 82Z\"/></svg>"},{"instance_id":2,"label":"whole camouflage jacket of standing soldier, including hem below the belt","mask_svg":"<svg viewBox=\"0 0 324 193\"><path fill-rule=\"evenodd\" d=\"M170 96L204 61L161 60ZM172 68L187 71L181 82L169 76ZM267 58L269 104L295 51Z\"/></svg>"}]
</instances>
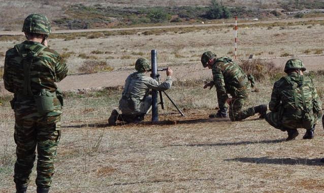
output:
<instances>
[{"instance_id":1,"label":"whole camouflage jacket of standing soldier, including hem below the belt","mask_svg":"<svg viewBox=\"0 0 324 193\"><path fill-rule=\"evenodd\" d=\"M29 57L31 55L33 56ZM22 96L17 103L13 103L12 107L15 110L23 108L25 114L35 113L36 104L33 95L38 95L42 89L51 93L57 91L55 82L64 79L67 72L66 63L54 50L32 41L15 45L6 52L4 68L5 88L15 94L15 101ZM25 78L27 76L29 78ZM54 98L53 105L54 110L48 113L48 116L62 113L61 103L57 98Z\"/></svg>"}]
</instances>

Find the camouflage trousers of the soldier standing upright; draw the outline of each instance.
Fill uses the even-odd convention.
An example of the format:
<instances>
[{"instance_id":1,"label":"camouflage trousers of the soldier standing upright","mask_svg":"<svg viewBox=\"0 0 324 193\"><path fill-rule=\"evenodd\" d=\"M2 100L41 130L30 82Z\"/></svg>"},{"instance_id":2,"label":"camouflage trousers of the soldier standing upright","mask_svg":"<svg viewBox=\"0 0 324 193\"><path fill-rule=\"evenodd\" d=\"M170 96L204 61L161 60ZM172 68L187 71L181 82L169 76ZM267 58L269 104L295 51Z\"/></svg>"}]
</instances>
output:
<instances>
[{"instance_id":1,"label":"camouflage trousers of the soldier standing upright","mask_svg":"<svg viewBox=\"0 0 324 193\"><path fill-rule=\"evenodd\" d=\"M15 103L15 133L17 160L14 181L17 186L27 186L36 159L38 187L50 187L54 174L54 159L60 139L60 115L41 116L35 106Z\"/></svg>"}]
</instances>

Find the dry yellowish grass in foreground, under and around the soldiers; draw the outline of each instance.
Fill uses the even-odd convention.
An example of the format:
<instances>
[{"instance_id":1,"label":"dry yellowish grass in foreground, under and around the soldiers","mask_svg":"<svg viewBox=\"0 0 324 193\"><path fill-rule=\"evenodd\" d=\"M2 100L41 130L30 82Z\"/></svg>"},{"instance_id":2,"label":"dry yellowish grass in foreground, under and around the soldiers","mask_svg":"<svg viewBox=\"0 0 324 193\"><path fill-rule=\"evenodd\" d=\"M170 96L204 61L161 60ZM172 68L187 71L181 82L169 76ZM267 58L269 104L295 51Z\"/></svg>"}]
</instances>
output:
<instances>
[{"instance_id":1,"label":"dry yellowish grass in foreground, under and around the soldiers","mask_svg":"<svg viewBox=\"0 0 324 193\"><path fill-rule=\"evenodd\" d=\"M314 74L316 75L316 74ZM319 74L318 74L319 75ZM315 76L317 78L317 76ZM318 78L317 78L318 79ZM323 84L320 79L318 84ZM210 120L217 104L215 90L203 80L178 80L167 91L187 115L165 97L160 125L109 127L107 118L118 103L120 88L64 93L62 137L55 164L53 192L319 192L324 172L319 159L323 131L316 138L284 142L286 134L257 116L242 122ZM272 83L250 93L247 104L269 100ZM109 97L107 97L109 96ZM266 97L265 97L266 96ZM2 152L0 182L13 191L14 141L8 101L0 112ZM150 116L145 121L149 121ZM6 120L6 121L5 121ZM4 123L8 123L4 125ZM304 131L301 131L303 135ZM5 139L7 138L7 139ZM10 139L10 140L9 140ZM5 162L6 160L6 162ZM8 162L8 160L10 160ZM30 191L34 191L35 173ZM278 176L280 179L278 180ZM309 178L312 182L309 182ZM298 182L298 183L296 183Z\"/></svg>"}]
</instances>

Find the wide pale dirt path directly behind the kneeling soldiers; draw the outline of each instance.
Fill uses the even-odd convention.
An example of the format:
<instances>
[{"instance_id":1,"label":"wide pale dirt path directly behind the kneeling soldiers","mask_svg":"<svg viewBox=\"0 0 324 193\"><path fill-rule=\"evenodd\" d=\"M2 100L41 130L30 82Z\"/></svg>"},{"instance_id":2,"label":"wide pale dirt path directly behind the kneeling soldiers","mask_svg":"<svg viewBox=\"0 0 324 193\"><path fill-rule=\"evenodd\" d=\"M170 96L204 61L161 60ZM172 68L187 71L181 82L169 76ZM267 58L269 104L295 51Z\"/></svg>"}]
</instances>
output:
<instances>
[{"instance_id":1,"label":"wide pale dirt path directly behind the kneeling soldiers","mask_svg":"<svg viewBox=\"0 0 324 193\"><path fill-rule=\"evenodd\" d=\"M298 57L304 61L307 70L324 70L324 56L301 56ZM288 57L268 59L273 61L278 66L284 66ZM167 66L167 64L160 64L159 66ZM199 78L211 78L211 70L203 68L200 61L190 62L183 65L171 66L174 71L174 80L190 80ZM102 87L123 86L128 74L135 69L117 70L112 72L102 72L94 74L69 75L58 86L64 90L78 90L78 89L100 89ZM160 72L161 79L164 80L165 72ZM147 74L149 75L149 73ZM202 83L203 84L203 83Z\"/></svg>"}]
</instances>

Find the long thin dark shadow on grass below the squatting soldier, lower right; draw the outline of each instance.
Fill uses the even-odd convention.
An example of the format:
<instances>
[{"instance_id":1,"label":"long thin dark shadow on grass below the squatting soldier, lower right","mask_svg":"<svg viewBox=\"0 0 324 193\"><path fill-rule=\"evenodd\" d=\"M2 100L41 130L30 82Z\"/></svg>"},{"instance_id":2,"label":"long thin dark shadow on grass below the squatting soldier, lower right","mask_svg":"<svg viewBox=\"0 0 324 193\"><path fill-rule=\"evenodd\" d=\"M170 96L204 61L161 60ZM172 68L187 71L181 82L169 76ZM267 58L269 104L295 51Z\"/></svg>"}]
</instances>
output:
<instances>
[{"instance_id":1,"label":"long thin dark shadow on grass below the squatting soldier, lower right","mask_svg":"<svg viewBox=\"0 0 324 193\"><path fill-rule=\"evenodd\" d=\"M254 163L254 164L278 164L278 165L306 165L306 166L318 166L324 163L320 162L320 158L307 159L307 158L234 158L226 159L224 161L228 162L244 162L244 163Z\"/></svg>"}]
</instances>

